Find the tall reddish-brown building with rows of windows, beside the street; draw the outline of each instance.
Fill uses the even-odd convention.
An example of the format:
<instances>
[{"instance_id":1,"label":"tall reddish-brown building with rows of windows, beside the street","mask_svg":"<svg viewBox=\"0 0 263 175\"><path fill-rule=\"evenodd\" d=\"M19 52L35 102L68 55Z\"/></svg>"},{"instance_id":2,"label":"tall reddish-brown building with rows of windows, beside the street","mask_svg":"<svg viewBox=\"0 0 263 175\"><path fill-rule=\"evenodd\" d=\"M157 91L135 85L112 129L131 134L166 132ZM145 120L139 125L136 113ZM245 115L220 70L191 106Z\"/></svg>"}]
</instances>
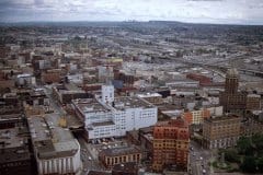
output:
<instances>
[{"instance_id":1,"label":"tall reddish-brown building with rows of windows, beside the street","mask_svg":"<svg viewBox=\"0 0 263 175\"><path fill-rule=\"evenodd\" d=\"M188 124L181 117L168 124L155 126L152 168L160 172L165 165L171 164L186 168L188 144Z\"/></svg>"}]
</instances>

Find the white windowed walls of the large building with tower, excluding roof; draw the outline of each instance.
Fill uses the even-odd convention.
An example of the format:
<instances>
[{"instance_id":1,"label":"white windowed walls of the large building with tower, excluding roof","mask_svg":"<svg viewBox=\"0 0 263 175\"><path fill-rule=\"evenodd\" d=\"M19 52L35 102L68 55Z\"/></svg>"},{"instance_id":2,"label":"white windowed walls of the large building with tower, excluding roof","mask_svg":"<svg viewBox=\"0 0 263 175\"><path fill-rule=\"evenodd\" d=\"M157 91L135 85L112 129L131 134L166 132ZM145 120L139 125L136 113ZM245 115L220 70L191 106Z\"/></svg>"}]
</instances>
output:
<instances>
[{"instance_id":1,"label":"white windowed walls of the large building with tower, excluding roof","mask_svg":"<svg viewBox=\"0 0 263 175\"><path fill-rule=\"evenodd\" d=\"M155 125L157 122L157 107L84 113L84 118L89 139L122 137L126 135L126 131ZM108 122L112 124L108 125Z\"/></svg>"}]
</instances>

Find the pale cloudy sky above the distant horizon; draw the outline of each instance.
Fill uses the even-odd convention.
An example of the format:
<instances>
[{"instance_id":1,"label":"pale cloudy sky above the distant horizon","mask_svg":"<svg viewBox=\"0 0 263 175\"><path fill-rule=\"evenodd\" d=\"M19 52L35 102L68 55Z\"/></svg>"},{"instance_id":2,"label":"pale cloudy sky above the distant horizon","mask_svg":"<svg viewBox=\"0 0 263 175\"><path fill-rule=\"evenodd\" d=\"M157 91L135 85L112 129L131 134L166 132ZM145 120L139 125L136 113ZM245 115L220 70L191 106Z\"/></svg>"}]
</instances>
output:
<instances>
[{"instance_id":1,"label":"pale cloudy sky above the distant horizon","mask_svg":"<svg viewBox=\"0 0 263 175\"><path fill-rule=\"evenodd\" d=\"M129 20L263 24L263 0L0 0L0 22Z\"/></svg>"}]
</instances>

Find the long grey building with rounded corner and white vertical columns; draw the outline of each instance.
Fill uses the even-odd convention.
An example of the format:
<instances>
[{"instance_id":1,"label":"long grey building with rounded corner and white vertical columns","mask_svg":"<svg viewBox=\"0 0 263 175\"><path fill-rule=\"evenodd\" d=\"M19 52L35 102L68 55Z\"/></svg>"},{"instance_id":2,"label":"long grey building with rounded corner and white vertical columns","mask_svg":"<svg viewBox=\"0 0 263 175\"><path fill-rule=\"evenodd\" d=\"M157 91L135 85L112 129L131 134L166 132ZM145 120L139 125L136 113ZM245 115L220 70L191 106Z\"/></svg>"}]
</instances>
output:
<instances>
[{"instance_id":1,"label":"long grey building with rounded corner and white vertical columns","mask_svg":"<svg viewBox=\"0 0 263 175\"><path fill-rule=\"evenodd\" d=\"M58 119L57 114L27 116L39 175L78 174L81 170L79 142Z\"/></svg>"}]
</instances>

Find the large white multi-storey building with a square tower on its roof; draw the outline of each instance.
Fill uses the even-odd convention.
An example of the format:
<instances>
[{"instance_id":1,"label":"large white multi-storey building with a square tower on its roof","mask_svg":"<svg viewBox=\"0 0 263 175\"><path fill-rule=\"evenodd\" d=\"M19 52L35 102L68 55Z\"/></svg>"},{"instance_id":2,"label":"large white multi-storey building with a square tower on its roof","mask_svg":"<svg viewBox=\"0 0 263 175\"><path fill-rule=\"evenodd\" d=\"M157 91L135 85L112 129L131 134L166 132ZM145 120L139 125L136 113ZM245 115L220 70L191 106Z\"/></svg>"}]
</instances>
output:
<instances>
[{"instance_id":1,"label":"large white multi-storey building with a square tower on its roof","mask_svg":"<svg viewBox=\"0 0 263 175\"><path fill-rule=\"evenodd\" d=\"M110 88L103 88L102 93L102 98L72 101L88 139L122 137L157 122L157 107L149 102L137 96L114 98Z\"/></svg>"}]
</instances>

